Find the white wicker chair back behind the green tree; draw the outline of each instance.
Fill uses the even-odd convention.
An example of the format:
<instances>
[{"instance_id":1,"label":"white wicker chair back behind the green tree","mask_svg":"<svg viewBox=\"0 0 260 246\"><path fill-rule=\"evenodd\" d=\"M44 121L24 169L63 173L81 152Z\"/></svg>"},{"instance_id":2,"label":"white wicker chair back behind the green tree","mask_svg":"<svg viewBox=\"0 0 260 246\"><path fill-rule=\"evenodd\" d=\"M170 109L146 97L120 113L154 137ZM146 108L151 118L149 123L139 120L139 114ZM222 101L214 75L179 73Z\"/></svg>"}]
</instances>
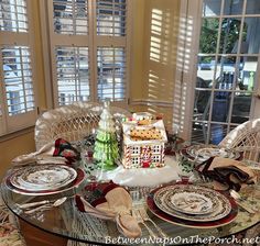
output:
<instances>
[{"instance_id":1,"label":"white wicker chair back behind the green tree","mask_svg":"<svg viewBox=\"0 0 260 246\"><path fill-rule=\"evenodd\" d=\"M68 142L82 139L97 127L102 107L98 103L75 102L43 113L35 124L36 150L62 137ZM121 108L110 107L116 121L130 113Z\"/></svg>"}]
</instances>

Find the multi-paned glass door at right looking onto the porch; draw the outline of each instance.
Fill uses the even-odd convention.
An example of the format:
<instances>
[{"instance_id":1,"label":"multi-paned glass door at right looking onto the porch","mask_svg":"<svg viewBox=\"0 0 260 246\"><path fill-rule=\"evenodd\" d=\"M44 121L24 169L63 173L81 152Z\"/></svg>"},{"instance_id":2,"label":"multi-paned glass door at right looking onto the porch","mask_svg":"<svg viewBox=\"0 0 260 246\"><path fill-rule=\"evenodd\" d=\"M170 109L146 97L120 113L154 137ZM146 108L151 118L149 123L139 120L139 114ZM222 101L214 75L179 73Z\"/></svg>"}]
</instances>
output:
<instances>
[{"instance_id":1,"label":"multi-paned glass door at right looking onto the porch","mask_svg":"<svg viewBox=\"0 0 260 246\"><path fill-rule=\"evenodd\" d=\"M182 88L186 105L193 96L194 105L185 110L191 135L184 138L217 145L237 125L259 118L260 1L185 2Z\"/></svg>"}]
</instances>

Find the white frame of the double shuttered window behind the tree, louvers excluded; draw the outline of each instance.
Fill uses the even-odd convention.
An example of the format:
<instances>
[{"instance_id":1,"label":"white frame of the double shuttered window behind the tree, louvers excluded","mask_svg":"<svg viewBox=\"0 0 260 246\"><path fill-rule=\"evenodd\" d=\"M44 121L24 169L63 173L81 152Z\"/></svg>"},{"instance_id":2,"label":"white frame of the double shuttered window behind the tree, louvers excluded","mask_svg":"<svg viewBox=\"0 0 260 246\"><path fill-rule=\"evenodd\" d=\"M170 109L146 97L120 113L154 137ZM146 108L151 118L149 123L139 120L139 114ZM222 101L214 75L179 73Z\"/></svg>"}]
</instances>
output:
<instances>
[{"instance_id":1,"label":"white frame of the double shuttered window behind the tree, louvers excluded","mask_svg":"<svg viewBox=\"0 0 260 246\"><path fill-rule=\"evenodd\" d=\"M118 107L127 107L129 104L129 81L130 81L130 44L131 44L131 22L132 22L132 3L131 0L126 0L127 4L127 21L126 21L126 36L98 36L96 34L96 0L88 0L88 35L66 35L56 34L53 27L53 1L40 1L41 27L44 56L44 74L45 88L47 94L47 109L57 108L58 91L57 91L57 76L56 76L56 57L55 46L67 45L75 47L88 47L89 51L89 102L98 102L98 68L97 68L97 48L101 47L124 47L126 49L126 71L124 71L124 100L115 101L113 104ZM52 36L53 35L53 36ZM73 42L69 41L69 37ZM56 40L55 40L56 38ZM111 40L116 41L112 42ZM117 46L118 45L118 46ZM51 66L50 66L51 65Z\"/></svg>"}]
</instances>

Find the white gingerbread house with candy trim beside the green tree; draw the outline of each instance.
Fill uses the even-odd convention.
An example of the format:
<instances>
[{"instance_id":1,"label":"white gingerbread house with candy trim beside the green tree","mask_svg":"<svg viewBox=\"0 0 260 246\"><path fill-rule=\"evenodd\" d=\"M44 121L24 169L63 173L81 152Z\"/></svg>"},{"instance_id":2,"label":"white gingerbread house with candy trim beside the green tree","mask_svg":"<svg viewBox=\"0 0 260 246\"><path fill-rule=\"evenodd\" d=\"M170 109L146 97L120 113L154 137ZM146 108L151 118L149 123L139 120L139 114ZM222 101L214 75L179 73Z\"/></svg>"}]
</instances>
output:
<instances>
[{"instance_id":1,"label":"white gingerbread house with candy trim beside the green tree","mask_svg":"<svg viewBox=\"0 0 260 246\"><path fill-rule=\"evenodd\" d=\"M154 168L164 166L164 144L167 142L162 120L149 113L133 114L122 123L124 168Z\"/></svg>"}]
</instances>

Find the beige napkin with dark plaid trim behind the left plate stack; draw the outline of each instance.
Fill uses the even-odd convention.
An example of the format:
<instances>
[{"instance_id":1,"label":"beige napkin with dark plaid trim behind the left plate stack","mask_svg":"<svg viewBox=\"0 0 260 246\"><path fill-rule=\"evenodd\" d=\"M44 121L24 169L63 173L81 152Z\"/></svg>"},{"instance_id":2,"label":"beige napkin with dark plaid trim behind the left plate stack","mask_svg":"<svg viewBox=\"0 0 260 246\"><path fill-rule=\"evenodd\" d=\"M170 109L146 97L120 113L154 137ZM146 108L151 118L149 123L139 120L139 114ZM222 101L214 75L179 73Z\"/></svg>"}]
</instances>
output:
<instances>
[{"instance_id":1,"label":"beige napkin with dark plaid trim behind the left plate stack","mask_svg":"<svg viewBox=\"0 0 260 246\"><path fill-rule=\"evenodd\" d=\"M14 166L25 165L30 163L37 164L72 164L79 159L80 154L68 142L58 138L53 143L48 143L37 152L18 156L12 160Z\"/></svg>"}]
</instances>

